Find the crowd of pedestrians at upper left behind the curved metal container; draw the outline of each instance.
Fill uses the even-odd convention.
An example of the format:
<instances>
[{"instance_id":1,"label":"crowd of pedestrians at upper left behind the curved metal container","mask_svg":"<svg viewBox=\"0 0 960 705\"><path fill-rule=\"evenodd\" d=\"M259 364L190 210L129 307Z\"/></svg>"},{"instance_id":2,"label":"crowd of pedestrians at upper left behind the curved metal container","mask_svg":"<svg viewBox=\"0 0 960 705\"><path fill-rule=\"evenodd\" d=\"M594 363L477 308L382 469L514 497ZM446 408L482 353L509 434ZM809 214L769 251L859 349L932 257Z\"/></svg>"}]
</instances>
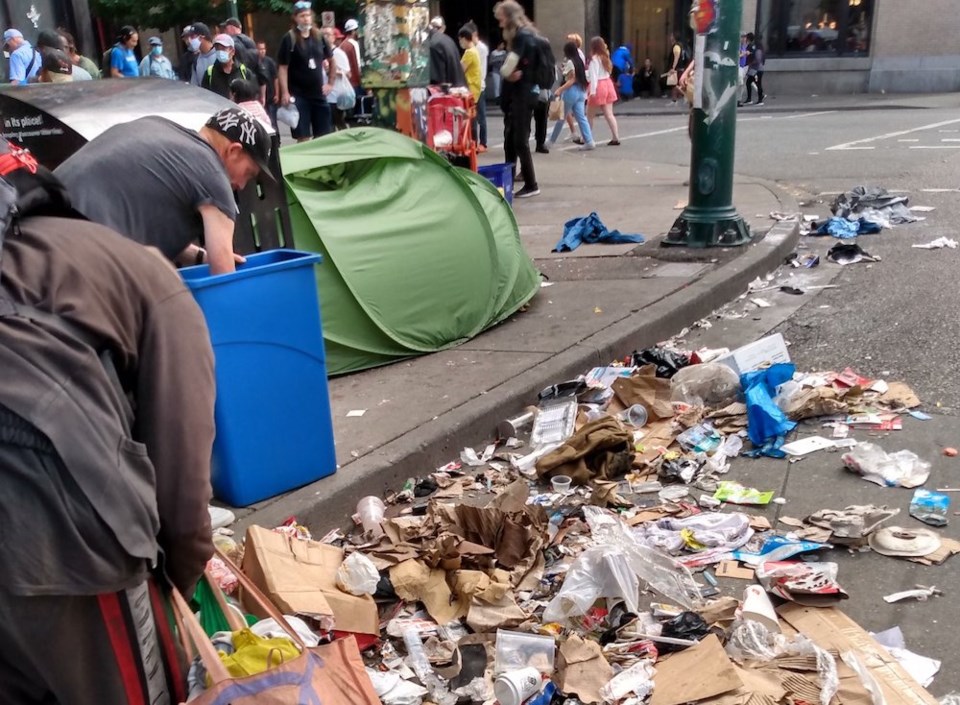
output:
<instances>
[{"instance_id":1,"label":"crowd of pedestrians at upper left behind the curved metal container","mask_svg":"<svg viewBox=\"0 0 960 705\"><path fill-rule=\"evenodd\" d=\"M168 56L159 36L149 37L144 50L137 28L125 26L103 53L99 68L62 28L42 30L34 45L11 27L3 34L10 56L7 80L13 85L100 78L182 81L243 103L274 129L285 118L298 141L345 129L366 94L360 83L360 25L350 18L342 31L335 27L321 31L314 24L309 0L294 3L292 20L276 58L269 56L265 42L255 42L243 32L236 17L224 20L216 31L204 22L186 25L180 34L184 51L179 59ZM138 51L143 52L140 58Z\"/></svg>"}]
</instances>

